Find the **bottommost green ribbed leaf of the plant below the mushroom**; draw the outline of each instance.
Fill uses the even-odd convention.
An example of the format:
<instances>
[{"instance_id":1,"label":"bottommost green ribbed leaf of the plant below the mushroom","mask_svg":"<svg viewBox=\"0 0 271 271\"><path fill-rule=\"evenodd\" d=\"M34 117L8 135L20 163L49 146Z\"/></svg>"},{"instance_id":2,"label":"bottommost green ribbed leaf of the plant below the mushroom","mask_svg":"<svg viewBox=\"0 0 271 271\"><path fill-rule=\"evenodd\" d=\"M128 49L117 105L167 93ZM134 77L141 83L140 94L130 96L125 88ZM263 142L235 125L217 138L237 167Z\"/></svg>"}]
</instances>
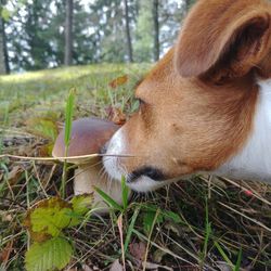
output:
<instances>
[{"instance_id":1,"label":"bottommost green ribbed leaf of the plant below the mushroom","mask_svg":"<svg viewBox=\"0 0 271 271\"><path fill-rule=\"evenodd\" d=\"M26 253L26 270L61 270L69 262L72 254L72 245L63 237L54 237L43 243L34 243Z\"/></svg>"}]
</instances>

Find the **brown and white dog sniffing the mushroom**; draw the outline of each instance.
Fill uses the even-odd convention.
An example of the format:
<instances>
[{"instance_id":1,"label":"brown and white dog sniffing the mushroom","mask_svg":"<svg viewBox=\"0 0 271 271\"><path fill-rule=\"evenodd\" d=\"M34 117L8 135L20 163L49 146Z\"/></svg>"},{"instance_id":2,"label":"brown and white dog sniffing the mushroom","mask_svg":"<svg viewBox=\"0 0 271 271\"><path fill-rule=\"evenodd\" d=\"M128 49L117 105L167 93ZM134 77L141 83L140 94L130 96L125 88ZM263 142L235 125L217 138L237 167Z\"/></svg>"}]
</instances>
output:
<instances>
[{"instance_id":1,"label":"brown and white dog sniffing the mushroom","mask_svg":"<svg viewBox=\"0 0 271 271\"><path fill-rule=\"evenodd\" d=\"M136 96L103 159L112 178L137 191L203 171L271 182L271 4L198 0Z\"/></svg>"}]
</instances>

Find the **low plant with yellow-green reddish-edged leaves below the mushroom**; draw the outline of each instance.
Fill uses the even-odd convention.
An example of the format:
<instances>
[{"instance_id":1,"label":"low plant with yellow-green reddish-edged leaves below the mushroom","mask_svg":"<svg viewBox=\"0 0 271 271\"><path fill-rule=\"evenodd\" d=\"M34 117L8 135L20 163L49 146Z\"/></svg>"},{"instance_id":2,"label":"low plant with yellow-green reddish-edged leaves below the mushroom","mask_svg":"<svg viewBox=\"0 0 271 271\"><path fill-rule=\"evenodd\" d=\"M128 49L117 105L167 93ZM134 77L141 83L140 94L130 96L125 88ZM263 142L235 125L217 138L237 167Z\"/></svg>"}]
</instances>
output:
<instances>
[{"instance_id":1,"label":"low plant with yellow-green reddish-edged leaves below the mushroom","mask_svg":"<svg viewBox=\"0 0 271 271\"><path fill-rule=\"evenodd\" d=\"M73 255L73 243L65 229L83 222L92 195L79 195L66 202L51 197L30 208L24 221L33 244L25 256L27 271L63 269Z\"/></svg>"}]
</instances>

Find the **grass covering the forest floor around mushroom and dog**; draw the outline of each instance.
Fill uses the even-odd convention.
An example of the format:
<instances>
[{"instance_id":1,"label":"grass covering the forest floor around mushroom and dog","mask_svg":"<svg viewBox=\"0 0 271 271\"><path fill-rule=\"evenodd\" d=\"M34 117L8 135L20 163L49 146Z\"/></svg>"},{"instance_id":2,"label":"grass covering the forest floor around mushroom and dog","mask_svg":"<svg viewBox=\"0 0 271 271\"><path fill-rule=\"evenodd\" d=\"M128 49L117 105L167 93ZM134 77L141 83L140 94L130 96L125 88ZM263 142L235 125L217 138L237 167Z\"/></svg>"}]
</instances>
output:
<instances>
[{"instance_id":1,"label":"grass covering the forest floor around mushroom and dog","mask_svg":"<svg viewBox=\"0 0 271 271\"><path fill-rule=\"evenodd\" d=\"M133 87L149 68L103 64L0 77L0 152L48 156L72 88L77 89L74 118L107 117L112 106L133 112ZM108 86L125 74L126 85ZM73 195L72 171L67 198ZM29 246L23 218L38 201L60 194L62 172L63 165L52 162L0 160L0 270L23 270ZM125 208L107 198L109 216L89 216L80 230L67 231L76 247L69 268L108 270L125 259L127 270L271 270L267 184L198 176L136 194L130 203L122 185L122 197Z\"/></svg>"}]
</instances>

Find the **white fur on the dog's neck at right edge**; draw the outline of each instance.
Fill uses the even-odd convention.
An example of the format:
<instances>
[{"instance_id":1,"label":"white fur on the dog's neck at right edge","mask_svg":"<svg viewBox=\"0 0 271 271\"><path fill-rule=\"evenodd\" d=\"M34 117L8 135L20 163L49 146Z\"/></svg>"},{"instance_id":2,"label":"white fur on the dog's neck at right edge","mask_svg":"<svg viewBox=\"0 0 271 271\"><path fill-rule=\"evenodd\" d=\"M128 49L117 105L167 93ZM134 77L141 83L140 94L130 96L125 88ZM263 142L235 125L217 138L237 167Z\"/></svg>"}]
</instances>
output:
<instances>
[{"instance_id":1,"label":"white fur on the dog's neck at right edge","mask_svg":"<svg viewBox=\"0 0 271 271\"><path fill-rule=\"evenodd\" d=\"M258 85L259 98L251 136L243 150L215 173L271 183L271 79Z\"/></svg>"}]
</instances>

